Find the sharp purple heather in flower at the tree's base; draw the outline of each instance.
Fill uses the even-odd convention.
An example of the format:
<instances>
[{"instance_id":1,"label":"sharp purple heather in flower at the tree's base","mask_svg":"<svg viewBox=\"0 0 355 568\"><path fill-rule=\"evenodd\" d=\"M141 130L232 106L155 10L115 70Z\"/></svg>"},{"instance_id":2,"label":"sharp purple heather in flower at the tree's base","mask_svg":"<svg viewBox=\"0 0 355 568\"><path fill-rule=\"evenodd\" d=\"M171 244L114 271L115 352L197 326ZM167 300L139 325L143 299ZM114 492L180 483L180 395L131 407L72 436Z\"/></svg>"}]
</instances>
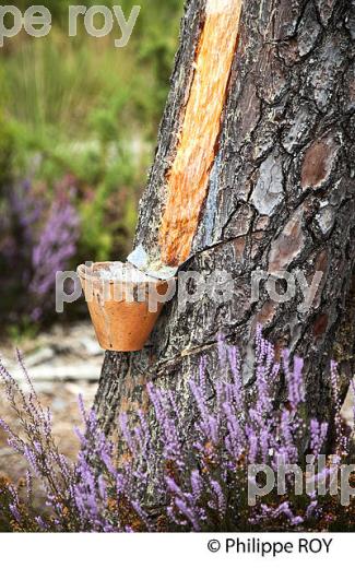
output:
<instances>
[{"instance_id":1,"label":"sharp purple heather in flower at the tree's base","mask_svg":"<svg viewBox=\"0 0 355 568\"><path fill-rule=\"evenodd\" d=\"M258 331L255 386L241 383L241 360L236 347L220 344L221 375L212 387L205 360L191 377L191 423L187 435L179 400L174 391L147 386L151 415L138 412L132 423L119 417L117 446L100 430L94 411L80 401L83 431L81 450L70 463L51 435L50 413L44 410L32 387L22 392L1 367L9 403L16 412L22 434L3 422L10 446L28 463L26 487L2 481L0 514L13 531L257 531L351 530L354 500L343 507L339 496L316 492L295 495L295 480L286 477L284 495L272 490L248 505L248 466L268 464L274 471L280 460L304 462L304 453L317 461L329 425L305 418L303 360L275 360L273 346ZM281 374L286 381L286 402L275 405L274 386ZM336 442L332 460L312 474L313 481L331 477L348 455L338 403L336 367L331 387L336 410ZM305 446L306 442L306 446ZM158 464L152 457L159 457ZM308 474L309 476L309 474ZM46 510L33 507L32 480L40 481Z\"/></svg>"}]
</instances>

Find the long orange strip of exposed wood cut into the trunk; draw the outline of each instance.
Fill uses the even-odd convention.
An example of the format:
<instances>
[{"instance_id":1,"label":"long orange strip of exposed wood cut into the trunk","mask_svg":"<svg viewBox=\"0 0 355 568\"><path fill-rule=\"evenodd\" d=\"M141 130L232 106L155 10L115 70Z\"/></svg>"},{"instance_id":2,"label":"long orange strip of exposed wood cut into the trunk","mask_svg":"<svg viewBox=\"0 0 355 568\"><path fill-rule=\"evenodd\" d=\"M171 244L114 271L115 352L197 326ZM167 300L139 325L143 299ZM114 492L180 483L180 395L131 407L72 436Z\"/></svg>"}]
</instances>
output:
<instances>
[{"instance_id":1,"label":"long orange strip of exposed wood cut into the trunk","mask_svg":"<svg viewBox=\"0 0 355 568\"><path fill-rule=\"evenodd\" d=\"M240 0L209 0L206 4L180 141L167 175L168 197L159 234L165 264L182 263L191 250L215 158L240 11Z\"/></svg>"}]
</instances>

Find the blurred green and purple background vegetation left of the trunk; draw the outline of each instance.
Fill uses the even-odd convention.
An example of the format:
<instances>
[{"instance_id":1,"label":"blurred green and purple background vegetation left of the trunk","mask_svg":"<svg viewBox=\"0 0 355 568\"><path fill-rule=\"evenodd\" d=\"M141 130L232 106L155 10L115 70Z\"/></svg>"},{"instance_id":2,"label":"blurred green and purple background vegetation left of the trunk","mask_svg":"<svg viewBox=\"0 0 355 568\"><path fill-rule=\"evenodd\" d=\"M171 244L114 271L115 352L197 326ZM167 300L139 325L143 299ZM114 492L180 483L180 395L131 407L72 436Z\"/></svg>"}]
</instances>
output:
<instances>
[{"instance_id":1,"label":"blurred green and purple background vegetation left of the trunk","mask_svg":"<svg viewBox=\"0 0 355 568\"><path fill-rule=\"evenodd\" d=\"M83 24L69 37L68 8L81 2L40 3L52 15L49 35L22 32L0 48L0 329L7 333L54 320L57 270L129 252L184 5L100 2L120 4L126 19L141 5L128 46L115 48L117 22L104 38L91 37ZM15 5L24 12L32 2ZM75 309L67 316L80 316Z\"/></svg>"}]
</instances>

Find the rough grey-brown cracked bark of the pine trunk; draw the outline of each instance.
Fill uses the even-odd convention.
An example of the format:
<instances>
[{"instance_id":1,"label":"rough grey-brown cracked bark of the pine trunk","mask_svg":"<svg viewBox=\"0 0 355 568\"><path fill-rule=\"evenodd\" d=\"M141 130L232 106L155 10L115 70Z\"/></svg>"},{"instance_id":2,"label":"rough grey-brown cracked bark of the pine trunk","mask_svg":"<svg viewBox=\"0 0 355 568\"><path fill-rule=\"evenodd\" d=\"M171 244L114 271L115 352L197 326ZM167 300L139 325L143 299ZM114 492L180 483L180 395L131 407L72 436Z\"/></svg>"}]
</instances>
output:
<instances>
[{"instance_id":1,"label":"rough grey-brown cracked bark of the pine trunk","mask_svg":"<svg viewBox=\"0 0 355 568\"><path fill-rule=\"evenodd\" d=\"M205 0L189 0L137 228L135 244L152 256L204 21ZM188 379L201 354L216 379L220 332L240 346L248 384L258 323L277 352L288 345L306 359L309 412L329 417L329 362L340 362L344 390L354 363L354 0L245 0L208 197L185 267L204 277L228 270L238 295L220 305L205 296L185 312L174 298L142 352L106 354L95 406L107 431L119 411L146 404L147 380L180 394L188 424ZM305 312L299 288L275 303L261 285L251 299L256 270L299 269L308 282L323 273Z\"/></svg>"}]
</instances>

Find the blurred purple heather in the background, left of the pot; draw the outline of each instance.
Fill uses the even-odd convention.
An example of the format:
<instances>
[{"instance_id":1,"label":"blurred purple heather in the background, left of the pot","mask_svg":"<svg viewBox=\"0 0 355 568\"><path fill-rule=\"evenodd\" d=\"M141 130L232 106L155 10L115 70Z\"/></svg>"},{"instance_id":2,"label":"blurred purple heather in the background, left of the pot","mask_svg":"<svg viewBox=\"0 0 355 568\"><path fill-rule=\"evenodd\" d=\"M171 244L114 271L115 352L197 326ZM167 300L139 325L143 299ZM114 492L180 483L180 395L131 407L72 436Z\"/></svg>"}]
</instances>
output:
<instances>
[{"instance_id":1,"label":"blurred purple heather in the background, left of the pot","mask_svg":"<svg viewBox=\"0 0 355 568\"><path fill-rule=\"evenodd\" d=\"M79 216L70 178L54 191L26 180L1 198L1 318L28 324L51 316L56 272L69 270L76 252Z\"/></svg>"}]
</instances>

